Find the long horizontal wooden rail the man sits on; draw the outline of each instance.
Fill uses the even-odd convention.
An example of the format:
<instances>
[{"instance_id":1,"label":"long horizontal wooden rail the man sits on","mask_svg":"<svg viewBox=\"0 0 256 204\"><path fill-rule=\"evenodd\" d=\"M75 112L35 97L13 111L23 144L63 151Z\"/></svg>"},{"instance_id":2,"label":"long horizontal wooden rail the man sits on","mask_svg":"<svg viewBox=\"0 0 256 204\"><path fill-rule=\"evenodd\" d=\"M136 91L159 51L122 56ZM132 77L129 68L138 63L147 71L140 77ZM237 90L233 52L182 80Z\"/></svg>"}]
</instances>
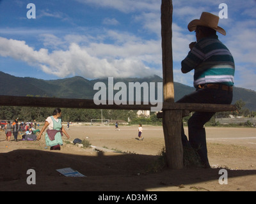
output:
<instances>
[{"instance_id":1,"label":"long horizontal wooden rail the man sits on","mask_svg":"<svg viewBox=\"0 0 256 204\"><path fill-rule=\"evenodd\" d=\"M108 102L108 101L107 101ZM141 102L143 103L143 102ZM135 103L134 103L135 104ZM95 105L92 99L40 98L26 96L0 96L0 106L29 106L50 108L85 108L108 110L150 110L156 105ZM189 110L200 112L226 112L237 110L235 105L206 103L163 103L162 110Z\"/></svg>"}]
</instances>

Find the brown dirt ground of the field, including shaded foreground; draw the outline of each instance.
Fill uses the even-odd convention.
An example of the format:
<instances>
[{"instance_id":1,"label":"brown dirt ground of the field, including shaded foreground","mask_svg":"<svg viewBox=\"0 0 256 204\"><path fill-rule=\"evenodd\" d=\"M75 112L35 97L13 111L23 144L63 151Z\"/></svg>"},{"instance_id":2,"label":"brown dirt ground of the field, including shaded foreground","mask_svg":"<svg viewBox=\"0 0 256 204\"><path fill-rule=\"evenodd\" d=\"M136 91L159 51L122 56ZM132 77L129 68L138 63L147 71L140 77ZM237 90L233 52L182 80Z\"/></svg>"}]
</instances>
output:
<instances>
[{"instance_id":1,"label":"brown dirt ground of the field, including shaded foreground","mask_svg":"<svg viewBox=\"0 0 256 204\"><path fill-rule=\"evenodd\" d=\"M7 142L0 131L0 191L256 191L256 128L206 128L212 168L182 170L157 170L164 147L161 127L143 126L143 141L136 140L137 126L120 126L120 131L70 126L67 131L70 141L86 139L103 152L66 142L60 151L50 151L44 137L15 142L12 136ZM65 177L56 171L61 168L86 177ZM221 185L223 168L228 184ZM27 183L29 169L35 170L35 185Z\"/></svg>"}]
</instances>

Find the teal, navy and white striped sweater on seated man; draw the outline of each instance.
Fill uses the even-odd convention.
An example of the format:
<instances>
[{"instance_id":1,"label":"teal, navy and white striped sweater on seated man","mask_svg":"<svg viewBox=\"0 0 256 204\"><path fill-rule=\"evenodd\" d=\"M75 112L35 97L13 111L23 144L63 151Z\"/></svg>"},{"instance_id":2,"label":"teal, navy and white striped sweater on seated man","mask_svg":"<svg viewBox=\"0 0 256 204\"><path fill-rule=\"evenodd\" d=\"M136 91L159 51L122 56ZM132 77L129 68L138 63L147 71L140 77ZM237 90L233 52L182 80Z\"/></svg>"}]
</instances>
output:
<instances>
[{"instance_id":1,"label":"teal, navy and white striped sweater on seated man","mask_svg":"<svg viewBox=\"0 0 256 204\"><path fill-rule=\"evenodd\" d=\"M225 84L234 86L235 62L228 48L218 36L203 38L196 43L181 62L182 72L195 69L194 86L200 84Z\"/></svg>"}]
</instances>

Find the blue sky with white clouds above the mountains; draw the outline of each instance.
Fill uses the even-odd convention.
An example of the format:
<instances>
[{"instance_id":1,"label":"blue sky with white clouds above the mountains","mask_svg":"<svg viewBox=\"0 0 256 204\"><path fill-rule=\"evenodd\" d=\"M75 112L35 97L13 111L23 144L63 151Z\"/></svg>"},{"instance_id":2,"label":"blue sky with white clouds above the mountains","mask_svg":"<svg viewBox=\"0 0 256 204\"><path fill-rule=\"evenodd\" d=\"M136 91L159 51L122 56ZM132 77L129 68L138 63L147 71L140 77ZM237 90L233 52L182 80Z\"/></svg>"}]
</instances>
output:
<instances>
[{"instance_id":1,"label":"blue sky with white clouds above the mountains","mask_svg":"<svg viewBox=\"0 0 256 204\"><path fill-rule=\"evenodd\" d=\"M27 5L36 18L27 18ZM228 18L218 34L236 62L235 85L256 91L256 1L173 0L174 81L193 86L180 62L195 33L188 23L202 11ZM160 0L0 0L0 71L44 80L81 76L162 76Z\"/></svg>"}]
</instances>

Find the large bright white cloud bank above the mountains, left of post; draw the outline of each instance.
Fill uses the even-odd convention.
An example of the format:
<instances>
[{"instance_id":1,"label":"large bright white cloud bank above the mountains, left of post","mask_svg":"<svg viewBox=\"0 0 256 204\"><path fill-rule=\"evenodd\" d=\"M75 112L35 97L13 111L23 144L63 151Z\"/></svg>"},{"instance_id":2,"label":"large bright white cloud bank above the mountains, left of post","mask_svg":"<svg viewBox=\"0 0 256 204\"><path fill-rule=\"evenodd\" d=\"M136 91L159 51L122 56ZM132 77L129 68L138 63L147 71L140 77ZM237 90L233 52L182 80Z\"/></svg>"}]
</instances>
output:
<instances>
[{"instance_id":1,"label":"large bright white cloud bank above the mountains, left of post","mask_svg":"<svg viewBox=\"0 0 256 204\"><path fill-rule=\"evenodd\" d=\"M145 45L131 44L125 47L106 44L81 47L76 43L71 43L67 50L54 50L49 53L49 50L45 48L36 51L26 45L25 41L0 37L0 55L24 61L30 66L39 67L45 73L61 78L70 75L80 75L86 78L145 77L159 73L157 69L150 68L143 63L143 59L147 59L147 55L143 54L145 50L150 50L148 46L152 47L152 45L154 42L148 42ZM141 46L141 50L138 46ZM93 49L103 51L90 54ZM111 50L115 52L111 53ZM116 58L117 52L119 52L118 59Z\"/></svg>"}]
</instances>

